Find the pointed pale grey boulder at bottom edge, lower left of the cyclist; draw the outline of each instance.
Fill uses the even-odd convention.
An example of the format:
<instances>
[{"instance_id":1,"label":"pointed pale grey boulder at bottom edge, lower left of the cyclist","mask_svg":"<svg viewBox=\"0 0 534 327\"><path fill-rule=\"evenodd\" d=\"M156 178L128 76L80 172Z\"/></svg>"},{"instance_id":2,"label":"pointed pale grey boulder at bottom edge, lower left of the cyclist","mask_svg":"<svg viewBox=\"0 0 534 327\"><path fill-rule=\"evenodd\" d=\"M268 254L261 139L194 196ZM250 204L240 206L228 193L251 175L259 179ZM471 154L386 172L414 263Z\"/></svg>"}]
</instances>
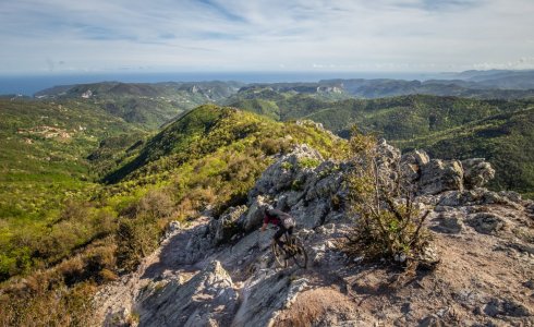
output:
<instances>
[{"instance_id":1,"label":"pointed pale grey boulder at bottom edge, lower left of the cyclist","mask_svg":"<svg viewBox=\"0 0 534 327\"><path fill-rule=\"evenodd\" d=\"M219 262L187 282L170 281L138 303L141 326L229 326L238 292Z\"/></svg>"}]
</instances>

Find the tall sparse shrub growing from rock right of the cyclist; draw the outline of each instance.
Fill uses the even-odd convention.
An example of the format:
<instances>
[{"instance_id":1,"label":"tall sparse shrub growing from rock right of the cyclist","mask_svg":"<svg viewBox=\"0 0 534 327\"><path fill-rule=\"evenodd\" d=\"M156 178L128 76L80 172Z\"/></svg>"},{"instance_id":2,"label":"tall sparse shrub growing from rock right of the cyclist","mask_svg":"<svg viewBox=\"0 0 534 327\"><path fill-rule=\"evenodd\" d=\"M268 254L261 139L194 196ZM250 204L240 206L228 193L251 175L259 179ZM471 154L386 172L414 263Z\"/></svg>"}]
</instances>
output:
<instances>
[{"instance_id":1,"label":"tall sparse shrub growing from rock right of the cyclist","mask_svg":"<svg viewBox=\"0 0 534 327\"><path fill-rule=\"evenodd\" d=\"M423 227L428 211L421 214L413 204L413 189L399 171L391 177L381 171L374 136L354 130L350 140L354 156L348 178L351 208L359 217L343 249L352 256L404 263L414 258L429 241ZM397 162L399 168L399 162Z\"/></svg>"}]
</instances>

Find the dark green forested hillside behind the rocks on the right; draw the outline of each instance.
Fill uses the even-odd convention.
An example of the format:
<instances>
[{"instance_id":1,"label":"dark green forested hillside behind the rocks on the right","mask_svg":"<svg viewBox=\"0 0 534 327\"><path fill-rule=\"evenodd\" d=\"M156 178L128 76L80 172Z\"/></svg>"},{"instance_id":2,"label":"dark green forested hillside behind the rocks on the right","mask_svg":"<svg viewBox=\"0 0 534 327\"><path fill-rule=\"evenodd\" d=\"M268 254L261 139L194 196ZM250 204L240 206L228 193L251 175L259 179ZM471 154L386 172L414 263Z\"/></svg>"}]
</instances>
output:
<instances>
[{"instance_id":1,"label":"dark green forested hillside behind the rocks on the right","mask_svg":"<svg viewBox=\"0 0 534 327\"><path fill-rule=\"evenodd\" d=\"M232 104L277 120L310 119L348 137L352 125L408 150L436 157L485 157L501 173L494 187L534 191L534 99L481 100L438 96L327 101L305 95L241 99Z\"/></svg>"}]
</instances>

